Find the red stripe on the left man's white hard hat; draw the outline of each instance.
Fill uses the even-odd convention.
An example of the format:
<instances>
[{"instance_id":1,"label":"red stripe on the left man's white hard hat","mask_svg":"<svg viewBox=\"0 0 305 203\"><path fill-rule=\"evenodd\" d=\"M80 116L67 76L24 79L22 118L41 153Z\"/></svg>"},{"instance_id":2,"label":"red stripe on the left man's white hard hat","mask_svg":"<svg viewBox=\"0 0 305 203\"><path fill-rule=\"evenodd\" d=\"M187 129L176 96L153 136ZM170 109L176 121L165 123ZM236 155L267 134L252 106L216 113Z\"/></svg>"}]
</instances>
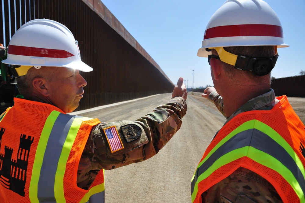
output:
<instances>
[{"instance_id":1,"label":"red stripe on the left man's white hard hat","mask_svg":"<svg viewBox=\"0 0 305 203\"><path fill-rule=\"evenodd\" d=\"M68 58L74 56L70 52L58 49L45 49L29 46L9 45L8 54L21 56L35 56L35 57L50 57L50 58Z\"/></svg>"}]
</instances>

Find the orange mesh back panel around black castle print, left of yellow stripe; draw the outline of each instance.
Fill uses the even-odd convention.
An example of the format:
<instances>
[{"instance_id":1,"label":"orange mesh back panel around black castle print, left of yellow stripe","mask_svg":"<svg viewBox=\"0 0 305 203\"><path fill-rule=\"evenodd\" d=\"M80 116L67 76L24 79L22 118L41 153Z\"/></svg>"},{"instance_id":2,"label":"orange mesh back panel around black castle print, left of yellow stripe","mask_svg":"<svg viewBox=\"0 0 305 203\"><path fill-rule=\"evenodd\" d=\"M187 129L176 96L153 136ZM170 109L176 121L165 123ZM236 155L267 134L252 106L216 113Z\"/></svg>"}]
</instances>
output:
<instances>
[{"instance_id":1,"label":"orange mesh back panel around black castle print, left of yellow stripe","mask_svg":"<svg viewBox=\"0 0 305 203\"><path fill-rule=\"evenodd\" d=\"M35 159L35 146L38 145L41 131L44 127L45 120L47 119L49 113L53 110L61 111L52 105L40 105L37 109L33 109L33 104L35 102L20 102L21 99L14 99L15 105L13 108L9 109L9 113L6 113L4 118L0 123L0 127L5 127L5 134L2 136L1 141L1 151L0 153L4 154L5 146L10 147L13 150L12 159L17 160L17 153L20 144L20 135L30 135L34 137L29 157L28 157L28 166L32 166ZM18 112L18 113L15 113ZM33 115L36 118L34 121L30 119L30 116ZM26 121L26 122L24 122ZM16 133L14 133L16 132ZM25 197L16 195L12 190L5 190L5 196L9 197L9 202L30 202L28 199L29 194L29 185L31 179L31 172L27 170L26 174L23 174L23 179L26 179L25 183Z\"/></svg>"}]
</instances>

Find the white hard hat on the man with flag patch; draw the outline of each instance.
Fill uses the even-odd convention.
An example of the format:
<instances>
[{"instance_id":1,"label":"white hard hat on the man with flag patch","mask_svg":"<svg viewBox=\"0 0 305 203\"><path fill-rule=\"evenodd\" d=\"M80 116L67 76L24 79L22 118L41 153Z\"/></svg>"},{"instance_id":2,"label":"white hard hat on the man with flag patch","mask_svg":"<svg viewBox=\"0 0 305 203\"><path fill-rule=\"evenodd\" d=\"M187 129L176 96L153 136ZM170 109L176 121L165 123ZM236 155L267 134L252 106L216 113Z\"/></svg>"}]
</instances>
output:
<instances>
[{"instance_id":1,"label":"white hard hat on the man with flag patch","mask_svg":"<svg viewBox=\"0 0 305 203\"><path fill-rule=\"evenodd\" d=\"M8 45L7 59L2 62L21 66L19 69L51 66L92 71L81 61L77 44L71 31L63 24L48 19L31 20L13 35Z\"/></svg>"}]
</instances>

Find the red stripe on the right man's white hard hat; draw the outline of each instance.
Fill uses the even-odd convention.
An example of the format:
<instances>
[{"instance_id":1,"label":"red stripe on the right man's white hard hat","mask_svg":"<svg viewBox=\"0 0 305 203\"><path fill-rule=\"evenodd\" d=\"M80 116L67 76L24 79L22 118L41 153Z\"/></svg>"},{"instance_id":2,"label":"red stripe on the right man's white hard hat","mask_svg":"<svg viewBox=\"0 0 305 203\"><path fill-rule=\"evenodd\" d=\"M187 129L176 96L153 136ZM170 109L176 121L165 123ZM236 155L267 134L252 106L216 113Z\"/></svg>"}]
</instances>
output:
<instances>
[{"instance_id":1,"label":"red stripe on the right man's white hard hat","mask_svg":"<svg viewBox=\"0 0 305 203\"><path fill-rule=\"evenodd\" d=\"M271 36L283 38L283 30L278 25L245 24L218 26L209 28L204 33L204 39L237 36Z\"/></svg>"}]
</instances>

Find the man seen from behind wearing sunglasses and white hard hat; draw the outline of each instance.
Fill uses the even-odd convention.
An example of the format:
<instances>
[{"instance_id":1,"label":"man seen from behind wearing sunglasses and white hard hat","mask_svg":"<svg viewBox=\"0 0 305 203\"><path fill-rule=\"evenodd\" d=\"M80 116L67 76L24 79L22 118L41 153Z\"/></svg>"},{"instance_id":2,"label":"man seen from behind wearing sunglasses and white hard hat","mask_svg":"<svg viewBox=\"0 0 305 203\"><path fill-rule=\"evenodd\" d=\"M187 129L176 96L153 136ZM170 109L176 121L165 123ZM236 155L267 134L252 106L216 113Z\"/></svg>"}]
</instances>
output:
<instances>
[{"instance_id":1,"label":"man seen from behind wearing sunglasses and white hard hat","mask_svg":"<svg viewBox=\"0 0 305 203\"><path fill-rule=\"evenodd\" d=\"M199 57L214 87L202 95L227 117L192 178L192 202L305 202L305 129L270 72L287 47L261 0L228 0L210 18Z\"/></svg>"}]
</instances>

